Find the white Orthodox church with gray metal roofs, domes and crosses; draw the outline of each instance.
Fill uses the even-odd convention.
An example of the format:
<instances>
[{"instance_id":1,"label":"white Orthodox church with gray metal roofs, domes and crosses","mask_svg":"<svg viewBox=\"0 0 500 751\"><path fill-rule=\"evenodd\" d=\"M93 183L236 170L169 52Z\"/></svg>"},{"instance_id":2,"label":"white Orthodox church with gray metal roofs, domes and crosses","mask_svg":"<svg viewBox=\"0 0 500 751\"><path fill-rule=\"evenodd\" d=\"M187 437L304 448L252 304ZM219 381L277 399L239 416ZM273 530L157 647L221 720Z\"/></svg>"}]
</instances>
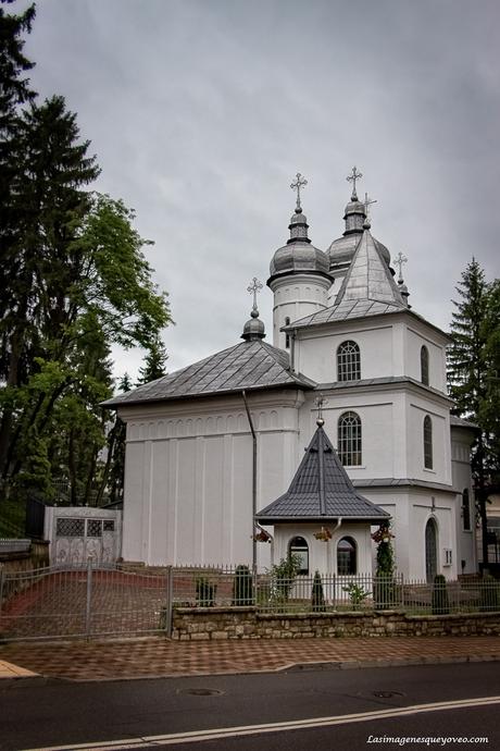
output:
<instances>
[{"instance_id":1,"label":"white Orthodox church with gray metal roofs, domes and crosses","mask_svg":"<svg viewBox=\"0 0 500 751\"><path fill-rule=\"evenodd\" d=\"M404 577L476 571L475 427L450 415L449 336L409 305L361 176L321 250L297 174L267 280L273 344L254 279L242 341L104 403L127 426L125 561L263 569L293 552L302 574L371 574L389 524Z\"/></svg>"}]
</instances>

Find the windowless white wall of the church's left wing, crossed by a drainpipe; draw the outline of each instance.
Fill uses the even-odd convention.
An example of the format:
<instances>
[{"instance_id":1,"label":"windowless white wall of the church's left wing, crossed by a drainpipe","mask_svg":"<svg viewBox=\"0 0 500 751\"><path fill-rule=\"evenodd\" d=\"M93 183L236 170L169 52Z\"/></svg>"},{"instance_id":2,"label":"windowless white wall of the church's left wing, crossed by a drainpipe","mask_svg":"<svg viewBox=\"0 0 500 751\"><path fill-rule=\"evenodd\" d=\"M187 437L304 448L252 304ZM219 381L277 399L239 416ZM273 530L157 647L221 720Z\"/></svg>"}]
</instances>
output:
<instances>
[{"instance_id":1,"label":"windowless white wall of the church's left wing, crossed by a drainpipe","mask_svg":"<svg viewBox=\"0 0 500 751\"><path fill-rule=\"evenodd\" d=\"M302 397L288 390L248 401L260 509L286 490L296 469ZM148 565L251 563L252 438L242 398L127 407L121 416L127 421L123 557ZM266 565L268 551L258 553Z\"/></svg>"}]
</instances>

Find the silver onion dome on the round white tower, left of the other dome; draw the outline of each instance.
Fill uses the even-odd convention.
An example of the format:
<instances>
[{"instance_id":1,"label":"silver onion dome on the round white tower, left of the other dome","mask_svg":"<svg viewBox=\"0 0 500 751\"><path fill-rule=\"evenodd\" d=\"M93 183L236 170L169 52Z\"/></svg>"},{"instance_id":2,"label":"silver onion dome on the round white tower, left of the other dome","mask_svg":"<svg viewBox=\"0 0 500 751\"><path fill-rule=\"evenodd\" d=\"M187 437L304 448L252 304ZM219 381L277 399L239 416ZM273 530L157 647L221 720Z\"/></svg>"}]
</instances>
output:
<instances>
[{"instance_id":1,"label":"silver onion dome on the round white tower, left of the other dome","mask_svg":"<svg viewBox=\"0 0 500 751\"><path fill-rule=\"evenodd\" d=\"M270 264L270 279L297 273L317 273L329 279L328 256L314 247L308 237L308 220L302 209L296 209L288 225L290 238L278 248Z\"/></svg>"}]
</instances>

